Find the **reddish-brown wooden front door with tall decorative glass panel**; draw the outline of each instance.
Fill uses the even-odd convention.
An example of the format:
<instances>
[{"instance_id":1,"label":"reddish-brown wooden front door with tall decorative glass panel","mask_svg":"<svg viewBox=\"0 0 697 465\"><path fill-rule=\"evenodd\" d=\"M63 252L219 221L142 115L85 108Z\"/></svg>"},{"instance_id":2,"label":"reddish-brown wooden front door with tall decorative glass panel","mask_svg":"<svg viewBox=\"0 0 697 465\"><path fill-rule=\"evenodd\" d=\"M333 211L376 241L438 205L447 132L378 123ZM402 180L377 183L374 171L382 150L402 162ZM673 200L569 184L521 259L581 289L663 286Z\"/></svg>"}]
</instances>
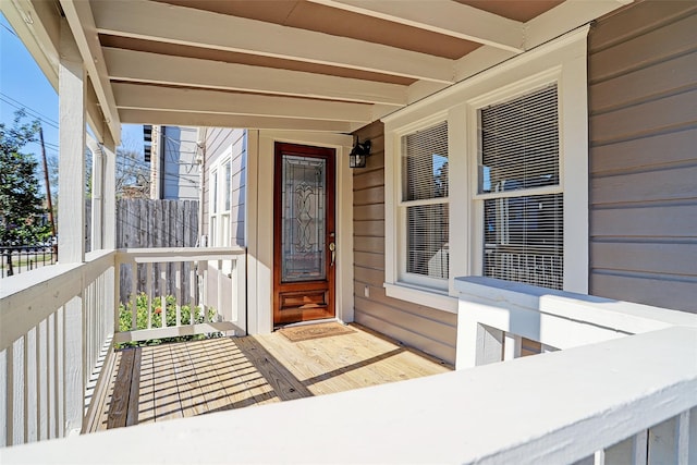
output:
<instances>
[{"instance_id":1,"label":"reddish-brown wooden front door with tall decorative glass panel","mask_svg":"<svg viewBox=\"0 0 697 465\"><path fill-rule=\"evenodd\" d=\"M273 325L334 316L334 150L276 144Z\"/></svg>"}]
</instances>

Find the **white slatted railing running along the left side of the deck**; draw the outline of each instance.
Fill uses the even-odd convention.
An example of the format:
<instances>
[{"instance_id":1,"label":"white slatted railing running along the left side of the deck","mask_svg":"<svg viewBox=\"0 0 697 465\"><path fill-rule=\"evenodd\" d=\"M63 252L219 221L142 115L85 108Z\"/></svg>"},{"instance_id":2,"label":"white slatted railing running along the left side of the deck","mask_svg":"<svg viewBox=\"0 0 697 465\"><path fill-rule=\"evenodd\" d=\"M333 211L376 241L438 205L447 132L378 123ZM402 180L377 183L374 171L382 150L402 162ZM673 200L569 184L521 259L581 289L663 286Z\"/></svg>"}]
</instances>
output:
<instances>
[{"instance_id":1,"label":"white slatted railing running along the left side of the deck","mask_svg":"<svg viewBox=\"0 0 697 465\"><path fill-rule=\"evenodd\" d=\"M0 290L0 444L80 431L84 393L113 333L113 252L5 278Z\"/></svg>"}]
</instances>

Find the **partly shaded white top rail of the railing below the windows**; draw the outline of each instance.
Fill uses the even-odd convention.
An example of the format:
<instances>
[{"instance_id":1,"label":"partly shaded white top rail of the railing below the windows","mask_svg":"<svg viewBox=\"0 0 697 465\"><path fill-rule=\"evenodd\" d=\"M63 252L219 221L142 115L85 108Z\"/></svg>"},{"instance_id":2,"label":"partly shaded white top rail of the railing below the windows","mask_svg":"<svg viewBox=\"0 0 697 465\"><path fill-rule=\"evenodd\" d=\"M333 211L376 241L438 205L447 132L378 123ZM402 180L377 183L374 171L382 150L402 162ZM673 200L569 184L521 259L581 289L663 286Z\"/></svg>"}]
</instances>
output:
<instances>
[{"instance_id":1,"label":"partly shaded white top rail of the railing below the windows","mask_svg":"<svg viewBox=\"0 0 697 465\"><path fill-rule=\"evenodd\" d=\"M636 334L672 326L697 328L697 315L494 278L455 278L461 298L511 310L530 310Z\"/></svg>"}]
</instances>

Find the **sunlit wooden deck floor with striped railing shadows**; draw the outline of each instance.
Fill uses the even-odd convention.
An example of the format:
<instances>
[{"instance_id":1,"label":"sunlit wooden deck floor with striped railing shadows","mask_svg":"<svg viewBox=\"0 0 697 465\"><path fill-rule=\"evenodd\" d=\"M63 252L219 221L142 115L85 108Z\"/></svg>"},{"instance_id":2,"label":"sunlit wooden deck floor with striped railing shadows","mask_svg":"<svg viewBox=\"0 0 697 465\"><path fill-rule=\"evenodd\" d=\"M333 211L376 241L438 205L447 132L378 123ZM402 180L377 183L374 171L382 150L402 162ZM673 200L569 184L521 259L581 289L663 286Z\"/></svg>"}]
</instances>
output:
<instances>
[{"instance_id":1,"label":"sunlit wooden deck floor with striped railing shadows","mask_svg":"<svg viewBox=\"0 0 697 465\"><path fill-rule=\"evenodd\" d=\"M360 326L291 342L278 331L115 354L85 431L330 394L450 371L452 366ZM131 375L132 379L131 379Z\"/></svg>"}]
</instances>

